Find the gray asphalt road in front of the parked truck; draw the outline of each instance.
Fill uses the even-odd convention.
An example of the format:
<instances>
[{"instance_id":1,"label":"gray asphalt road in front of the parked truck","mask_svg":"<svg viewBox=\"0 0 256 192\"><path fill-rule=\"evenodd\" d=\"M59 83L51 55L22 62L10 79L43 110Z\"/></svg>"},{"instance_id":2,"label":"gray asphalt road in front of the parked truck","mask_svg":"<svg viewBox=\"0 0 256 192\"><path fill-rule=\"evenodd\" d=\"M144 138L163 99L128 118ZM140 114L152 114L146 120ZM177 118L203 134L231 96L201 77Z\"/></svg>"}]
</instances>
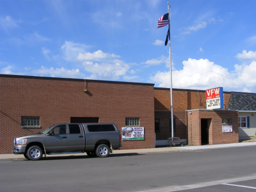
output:
<instances>
[{"instance_id":1,"label":"gray asphalt road in front of the parked truck","mask_svg":"<svg viewBox=\"0 0 256 192\"><path fill-rule=\"evenodd\" d=\"M222 181L256 181L255 159L256 148L252 146L129 156L111 154L108 158L48 156L40 161L0 161L0 191L174 191L195 184L210 186L207 191L222 191L216 190ZM196 191L196 187L190 191Z\"/></svg>"}]
</instances>

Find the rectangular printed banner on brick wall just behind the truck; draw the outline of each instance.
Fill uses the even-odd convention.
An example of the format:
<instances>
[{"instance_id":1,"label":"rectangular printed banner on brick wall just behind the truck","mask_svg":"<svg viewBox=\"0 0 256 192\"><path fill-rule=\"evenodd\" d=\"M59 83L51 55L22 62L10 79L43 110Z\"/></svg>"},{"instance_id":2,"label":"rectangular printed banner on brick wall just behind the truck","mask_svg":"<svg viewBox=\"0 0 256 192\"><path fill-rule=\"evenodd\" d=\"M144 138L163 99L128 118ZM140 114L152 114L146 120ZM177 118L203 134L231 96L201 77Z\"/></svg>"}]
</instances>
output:
<instances>
[{"instance_id":1,"label":"rectangular printed banner on brick wall just behind the truck","mask_svg":"<svg viewBox=\"0 0 256 192\"><path fill-rule=\"evenodd\" d=\"M144 127L122 127L123 140L144 139Z\"/></svg>"}]
</instances>

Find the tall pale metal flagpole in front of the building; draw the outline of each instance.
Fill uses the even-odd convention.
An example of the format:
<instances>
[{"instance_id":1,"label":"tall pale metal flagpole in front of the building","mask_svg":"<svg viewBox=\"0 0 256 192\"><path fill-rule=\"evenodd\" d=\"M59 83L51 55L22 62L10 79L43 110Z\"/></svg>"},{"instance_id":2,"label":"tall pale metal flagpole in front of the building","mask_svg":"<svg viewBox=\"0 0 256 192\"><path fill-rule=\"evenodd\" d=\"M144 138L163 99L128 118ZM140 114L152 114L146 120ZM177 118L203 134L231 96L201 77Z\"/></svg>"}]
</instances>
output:
<instances>
[{"instance_id":1,"label":"tall pale metal flagpole in front of the building","mask_svg":"<svg viewBox=\"0 0 256 192\"><path fill-rule=\"evenodd\" d=\"M169 13L169 2L168 4L168 13ZM171 98L171 121L172 121L172 137L173 136L173 106L172 106L172 60L171 60L171 30L170 30L170 13L168 14L169 17L169 55L170 55L170 98Z\"/></svg>"}]
</instances>

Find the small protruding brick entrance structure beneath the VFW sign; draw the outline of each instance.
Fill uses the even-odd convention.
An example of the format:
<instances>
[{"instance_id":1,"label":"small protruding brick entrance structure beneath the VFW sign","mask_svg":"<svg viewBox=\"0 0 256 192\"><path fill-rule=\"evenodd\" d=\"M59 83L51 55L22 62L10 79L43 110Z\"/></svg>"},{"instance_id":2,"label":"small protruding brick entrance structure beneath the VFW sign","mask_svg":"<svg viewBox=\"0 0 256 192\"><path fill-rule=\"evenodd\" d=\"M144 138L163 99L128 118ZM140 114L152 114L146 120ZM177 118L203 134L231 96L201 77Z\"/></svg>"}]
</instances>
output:
<instances>
[{"instance_id":1,"label":"small protruding brick entrance structure beneath the VFW sign","mask_svg":"<svg viewBox=\"0 0 256 192\"><path fill-rule=\"evenodd\" d=\"M201 119L210 119L209 144L238 143L238 111L199 109L187 116L188 144L201 145ZM222 132L222 119L231 119L233 132Z\"/></svg>"}]
</instances>

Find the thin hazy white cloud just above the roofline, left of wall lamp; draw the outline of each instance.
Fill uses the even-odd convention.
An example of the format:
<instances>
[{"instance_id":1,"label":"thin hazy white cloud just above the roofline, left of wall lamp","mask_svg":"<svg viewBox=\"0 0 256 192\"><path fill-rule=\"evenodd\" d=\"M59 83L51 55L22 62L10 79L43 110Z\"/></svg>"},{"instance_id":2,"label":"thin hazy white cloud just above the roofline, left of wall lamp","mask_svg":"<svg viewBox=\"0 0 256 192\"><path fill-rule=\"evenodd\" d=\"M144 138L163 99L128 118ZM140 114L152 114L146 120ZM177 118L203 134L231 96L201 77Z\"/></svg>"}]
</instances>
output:
<instances>
[{"instance_id":1,"label":"thin hazy white cloud just above the roofline, left of wall lamp","mask_svg":"<svg viewBox=\"0 0 256 192\"><path fill-rule=\"evenodd\" d=\"M45 68L41 67L40 69L33 70L34 75L50 75L51 77L63 77L63 78L83 78L84 75L79 72L79 69L66 69L62 68Z\"/></svg>"}]
</instances>

